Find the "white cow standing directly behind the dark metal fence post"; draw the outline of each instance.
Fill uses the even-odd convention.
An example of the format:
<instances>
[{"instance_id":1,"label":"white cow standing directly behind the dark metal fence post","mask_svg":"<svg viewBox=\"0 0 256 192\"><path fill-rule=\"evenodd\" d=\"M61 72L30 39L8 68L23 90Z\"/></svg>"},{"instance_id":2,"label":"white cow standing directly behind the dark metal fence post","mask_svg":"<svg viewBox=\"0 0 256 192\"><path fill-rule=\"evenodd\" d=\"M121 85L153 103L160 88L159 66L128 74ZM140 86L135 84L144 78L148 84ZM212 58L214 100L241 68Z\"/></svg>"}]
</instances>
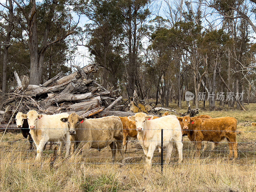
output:
<instances>
[{"instance_id":1,"label":"white cow standing directly behind the dark metal fence post","mask_svg":"<svg viewBox=\"0 0 256 192\"><path fill-rule=\"evenodd\" d=\"M179 163L182 161L182 133L180 122L176 116L168 115L153 119L152 115L146 113L136 113L134 116L128 116L130 121L135 121L138 131L137 138L143 148L146 156L146 163L151 167L151 160L156 147L161 146L161 129L163 129L163 144L167 148L165 163L170 162L173 142L179 153Z\"/></svg>"}]
</instances>

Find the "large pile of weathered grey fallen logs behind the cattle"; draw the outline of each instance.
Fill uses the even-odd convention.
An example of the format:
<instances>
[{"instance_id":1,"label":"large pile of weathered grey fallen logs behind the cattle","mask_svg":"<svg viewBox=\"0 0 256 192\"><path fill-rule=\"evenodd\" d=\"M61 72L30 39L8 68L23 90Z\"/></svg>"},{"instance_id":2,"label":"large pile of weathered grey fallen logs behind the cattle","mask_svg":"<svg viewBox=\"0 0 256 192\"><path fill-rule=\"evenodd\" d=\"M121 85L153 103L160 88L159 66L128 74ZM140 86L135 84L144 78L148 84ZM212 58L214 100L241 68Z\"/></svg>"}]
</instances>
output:
<instances>
[{"instance_id":1,"label":"large pile of weathered grey fallen logs behind the cattle","mask_svg":"<svg viewBox=\"0 0 256 192\"><path fill-rule=\"evenodd\" d=\"M22 98L18 111L23 113L35 109L43 114L76 112L82 117L133 114L122 111L128 103L124 104L120 89L106 90L92 79L93 73L98 70L95 64L83 68L76 65L73 67L74 73L65 76L60 72L42 85L29 84L24 92L18 74L14 72L18 86L13 93L8 94L7 99L2 101L2 107L11 105L12 110L9 111L14 111ZM110 111L110 109L116 111Z\"/></svg>"}]
</instances>

